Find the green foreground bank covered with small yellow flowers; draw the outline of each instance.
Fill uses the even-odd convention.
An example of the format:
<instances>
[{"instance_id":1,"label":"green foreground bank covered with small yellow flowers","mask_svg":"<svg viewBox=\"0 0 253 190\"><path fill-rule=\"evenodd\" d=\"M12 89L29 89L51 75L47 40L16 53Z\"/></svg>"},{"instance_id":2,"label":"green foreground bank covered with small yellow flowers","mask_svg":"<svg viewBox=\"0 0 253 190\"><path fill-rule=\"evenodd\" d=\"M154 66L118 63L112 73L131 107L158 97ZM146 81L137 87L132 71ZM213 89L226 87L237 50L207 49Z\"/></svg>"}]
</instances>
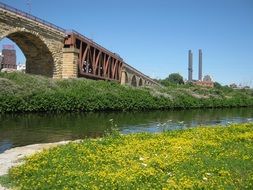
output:
<instances>
[{"instance_id":1,"label":"green foreground bank covered with small yellow flowers","mask_svg":"<svg viewBox=\"0 0 253 190\"><path fill-rule=\"evenodd\" d=\"M253 123L83 140L26 159L21 189L253 189Z\"/></svg>"}]
</instances>

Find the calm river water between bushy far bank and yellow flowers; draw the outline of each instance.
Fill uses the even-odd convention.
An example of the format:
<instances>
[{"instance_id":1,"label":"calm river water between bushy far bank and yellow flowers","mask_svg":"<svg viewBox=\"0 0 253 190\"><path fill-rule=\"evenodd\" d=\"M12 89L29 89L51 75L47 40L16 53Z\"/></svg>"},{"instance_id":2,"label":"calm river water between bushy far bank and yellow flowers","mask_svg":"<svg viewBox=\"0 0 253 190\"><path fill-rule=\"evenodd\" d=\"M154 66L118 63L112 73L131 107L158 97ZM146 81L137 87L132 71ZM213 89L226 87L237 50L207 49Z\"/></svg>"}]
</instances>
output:
<instances>
[{"instance_id":1,"label":"calm river water between bushy far bank and yellow flowers","mask_svg":"<svg viewBox=\"0 0 253 190\"><path fill-rule=\"evenodd\" d=\"M101 137L115 125L127 134L242 122L253 122L253 108L4 114L0 115L0 153L29 144Z\"/></svg>"}]
</instances>

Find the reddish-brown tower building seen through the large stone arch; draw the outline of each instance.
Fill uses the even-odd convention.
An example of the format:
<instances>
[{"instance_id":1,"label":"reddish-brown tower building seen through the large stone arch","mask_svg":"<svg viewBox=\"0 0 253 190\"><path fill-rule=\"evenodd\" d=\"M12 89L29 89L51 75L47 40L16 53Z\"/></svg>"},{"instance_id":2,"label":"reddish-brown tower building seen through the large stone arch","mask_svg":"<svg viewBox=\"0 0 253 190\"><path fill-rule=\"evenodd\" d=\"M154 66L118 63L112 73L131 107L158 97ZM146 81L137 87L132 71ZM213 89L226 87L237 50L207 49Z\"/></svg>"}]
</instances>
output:
<instances>
[{"instance_id":1,"label":"reddish-brown tower building seen through the large stone arch","mask_svg":"<svg viewBox=\"0 0 253 190\"><path fill-rule=\"evenodd\" d=\"M3 45L1 69L17 69L14 45Z\"/></svg>"}]
</instances>

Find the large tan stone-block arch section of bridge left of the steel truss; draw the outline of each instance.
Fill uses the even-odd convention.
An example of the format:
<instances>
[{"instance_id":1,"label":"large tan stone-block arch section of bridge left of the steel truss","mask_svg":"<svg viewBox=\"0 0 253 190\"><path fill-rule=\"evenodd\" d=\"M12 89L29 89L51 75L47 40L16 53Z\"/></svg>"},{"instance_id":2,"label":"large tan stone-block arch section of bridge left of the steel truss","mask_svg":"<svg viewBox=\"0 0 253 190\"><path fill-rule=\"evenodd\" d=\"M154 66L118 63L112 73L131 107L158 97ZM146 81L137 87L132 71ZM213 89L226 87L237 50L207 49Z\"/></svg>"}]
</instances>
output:
<instances>
[{"instance_id":1,"label":"large tan stone-block arch section of bridge left of the steel truss","mask_svg":"<svg viewBox=\"0 0 253 190\"><path fill-rule=\"evenodd\" d=\"M9 38L26 57L26 72L62 78L64 32L0 9L0 40Z\"/></svg>"}]
</instances>

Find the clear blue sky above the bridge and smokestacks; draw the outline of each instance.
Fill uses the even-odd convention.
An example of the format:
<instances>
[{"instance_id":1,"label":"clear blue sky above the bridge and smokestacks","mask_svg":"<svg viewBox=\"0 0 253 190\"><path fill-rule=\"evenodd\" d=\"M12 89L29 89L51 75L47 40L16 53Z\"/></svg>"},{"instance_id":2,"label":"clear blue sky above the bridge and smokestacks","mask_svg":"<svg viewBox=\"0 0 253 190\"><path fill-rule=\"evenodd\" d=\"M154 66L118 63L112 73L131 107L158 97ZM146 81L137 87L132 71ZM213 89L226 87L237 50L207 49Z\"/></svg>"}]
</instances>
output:
<instances>
[{"instance_id":1,"label":"clear blue sky above the bridge and smokestacks","mask_svg":"<svg viewBox=\"0 0 253 190\"><path fill-rule=\"evenodd\" d=\"M76 31L120 54L154 77L187 78L188 50L194 78L198 49L203 74L222 84L253 86L253 0L1 0ZM2 40L0 45L8 43ZM19 61L23 62L19 56Z\"/></svg>"}]
</instances>

